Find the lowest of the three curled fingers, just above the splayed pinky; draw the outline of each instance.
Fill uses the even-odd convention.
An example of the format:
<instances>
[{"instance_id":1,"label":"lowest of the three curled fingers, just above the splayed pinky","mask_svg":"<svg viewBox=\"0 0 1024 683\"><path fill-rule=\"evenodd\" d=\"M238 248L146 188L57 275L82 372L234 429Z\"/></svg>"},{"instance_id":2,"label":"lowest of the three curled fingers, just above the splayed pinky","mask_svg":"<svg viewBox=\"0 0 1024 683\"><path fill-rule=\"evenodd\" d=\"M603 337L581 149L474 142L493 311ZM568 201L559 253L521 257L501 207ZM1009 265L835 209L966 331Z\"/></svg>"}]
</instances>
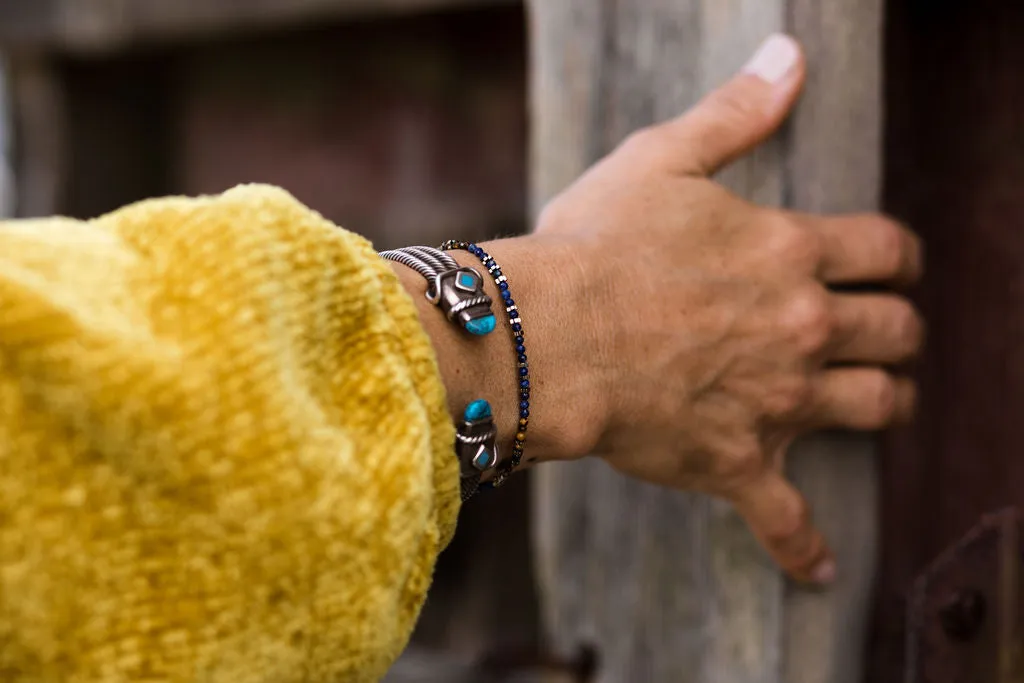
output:
<instances>
[{"instance_id":1,"label":"lowest of the three curled fingers, just above the splayed pinky","mask_svg":"<svg viewBox=\"0 0 1024 683\"><path fill-rule=\"evenodd\" d=\"M811 378L808 426L874 430L908 420L916 389L880 368L836 368Z\"/></svg>"}]
</instances>

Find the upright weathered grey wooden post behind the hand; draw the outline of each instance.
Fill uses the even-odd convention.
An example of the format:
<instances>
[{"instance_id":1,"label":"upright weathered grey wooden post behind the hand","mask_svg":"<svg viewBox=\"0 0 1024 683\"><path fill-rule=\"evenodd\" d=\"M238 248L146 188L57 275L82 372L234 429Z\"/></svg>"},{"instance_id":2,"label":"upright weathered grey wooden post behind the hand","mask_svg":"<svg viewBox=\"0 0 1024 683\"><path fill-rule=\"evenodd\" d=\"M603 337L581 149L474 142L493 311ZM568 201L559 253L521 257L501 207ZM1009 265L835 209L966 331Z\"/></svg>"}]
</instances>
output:
<instances>
[{"instance_id":1,"label":"upright weathered grey wooden post behind the hand","mask_svg":"<svg viewBox=\"0 0 1024 683\"><path fill-rule=\"evenodd\" d=\"M532 190L540 207L637 127L673 117L762 39L809 60L786 134L722 174L764 204L874 209L881 0L532 0ZM859 683L874 568L872 439L821 435L794 480L837 550L822 593L788 587L728 506L602 463L537 472L536 546L552 645L591 644L601 682Z\"/></svg>"}]
</instances>

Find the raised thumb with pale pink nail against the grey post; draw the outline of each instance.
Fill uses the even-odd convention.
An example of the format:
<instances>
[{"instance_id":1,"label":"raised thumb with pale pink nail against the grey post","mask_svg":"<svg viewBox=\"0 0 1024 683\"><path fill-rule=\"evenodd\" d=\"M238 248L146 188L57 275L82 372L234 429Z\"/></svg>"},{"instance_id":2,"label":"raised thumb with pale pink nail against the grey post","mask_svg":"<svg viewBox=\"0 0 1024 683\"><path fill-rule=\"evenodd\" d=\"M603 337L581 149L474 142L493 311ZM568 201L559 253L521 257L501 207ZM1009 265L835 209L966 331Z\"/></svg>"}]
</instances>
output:
<instances>
[{"instance_id":1,"label":"raised thumb with pale pink nail against the grey post","mask_svg":"<svg viewBox=\"0 0 1024 683\"><path fill-rule=\"evenodd\" d=\"M804 83L793 38L768 38L741 72L693 109L664 124L682 155L681 171L713 175L768 138L785 120Z\"/></svg>"}]
</instances>

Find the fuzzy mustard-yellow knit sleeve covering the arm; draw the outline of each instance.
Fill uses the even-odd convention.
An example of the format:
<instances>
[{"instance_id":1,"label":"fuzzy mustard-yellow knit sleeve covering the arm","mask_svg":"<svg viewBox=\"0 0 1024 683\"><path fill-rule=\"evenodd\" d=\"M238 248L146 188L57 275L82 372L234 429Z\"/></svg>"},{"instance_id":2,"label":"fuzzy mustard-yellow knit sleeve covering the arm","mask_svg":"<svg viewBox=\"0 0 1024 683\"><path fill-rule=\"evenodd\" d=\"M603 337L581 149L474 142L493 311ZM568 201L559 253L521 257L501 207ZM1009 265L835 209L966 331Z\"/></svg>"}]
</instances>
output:
<instances>
[{"instance_id":1,"label":"fuzzy mustard-yellow knit sleeve covering the arm","mask_svg":"<svg viewBox=\"0 0 1024 683\"><path fill-rule=\"evenodd\" d=\"M283 190L0 223L0 680L378 680L452 442L397 279Z\"/></svg>"}]
</instances>

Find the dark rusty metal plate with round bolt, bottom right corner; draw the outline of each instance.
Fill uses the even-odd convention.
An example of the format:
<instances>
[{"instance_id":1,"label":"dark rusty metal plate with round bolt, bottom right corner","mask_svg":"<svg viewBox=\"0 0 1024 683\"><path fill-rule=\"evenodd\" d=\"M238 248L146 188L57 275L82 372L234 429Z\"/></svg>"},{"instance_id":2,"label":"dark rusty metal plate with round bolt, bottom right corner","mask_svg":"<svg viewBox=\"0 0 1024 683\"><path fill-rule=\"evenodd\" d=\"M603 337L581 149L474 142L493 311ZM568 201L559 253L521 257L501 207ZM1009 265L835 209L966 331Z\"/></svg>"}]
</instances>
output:
<instances>
[{"instance_id":1,"label":"dark rusty metal plate with round bolt, bottom right corner","mask_svg":"<svg viewBox=\"0 0 1024 683\"><path fill-rule=\"evenodd\" d=\"M1016 509L988 515L914 583L905 683L1024 683Z\"/></svg>"}]
</instances>

